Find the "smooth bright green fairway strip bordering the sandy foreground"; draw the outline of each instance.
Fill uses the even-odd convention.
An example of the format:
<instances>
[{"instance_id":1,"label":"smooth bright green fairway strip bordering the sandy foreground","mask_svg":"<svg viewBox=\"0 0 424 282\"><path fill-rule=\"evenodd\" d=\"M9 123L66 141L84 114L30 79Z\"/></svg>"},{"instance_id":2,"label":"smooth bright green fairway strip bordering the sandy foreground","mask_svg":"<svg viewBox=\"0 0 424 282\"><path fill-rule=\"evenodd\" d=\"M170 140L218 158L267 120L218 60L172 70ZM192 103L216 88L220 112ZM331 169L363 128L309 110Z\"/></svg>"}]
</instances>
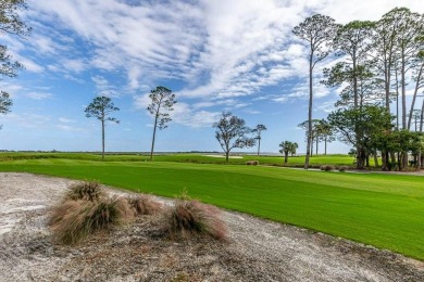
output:
<instances>
[{"instance_id":1,"label":"smooth bright green fairway strip bordering the sandy foreground","mask_svg":"<svg viewBox=\"0 0 424 282\"><path fill-rule=\"evenodd\" d=\"M33 158L0 171L95 179L123 189L192 197L424 260L424 178L170 162Z\"/></svg>"}]
</instances>

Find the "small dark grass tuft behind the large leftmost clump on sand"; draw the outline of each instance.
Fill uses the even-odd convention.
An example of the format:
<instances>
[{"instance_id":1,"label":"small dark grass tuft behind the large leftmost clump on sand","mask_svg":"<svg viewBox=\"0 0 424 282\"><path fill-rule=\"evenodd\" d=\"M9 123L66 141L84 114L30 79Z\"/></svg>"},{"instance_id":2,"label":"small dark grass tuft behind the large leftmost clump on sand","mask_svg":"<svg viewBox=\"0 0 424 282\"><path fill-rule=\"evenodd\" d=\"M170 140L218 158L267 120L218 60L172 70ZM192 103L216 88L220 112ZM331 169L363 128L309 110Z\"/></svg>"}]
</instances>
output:
<instances>
[{"instance_id":1,"label":"small dark grass tuft behind the large leftmost clump on sand","mask_svg":"<svg viewBox=\"0 0 424 282\"><path fill-rule=\"evenodd\" d=\"M86 201L99 201L104 197L105 193L100 188L100 183L97 181L84 181L72 184L70 191L65 195L65 200L86 200Z\"/></svg>"}]
</instances>

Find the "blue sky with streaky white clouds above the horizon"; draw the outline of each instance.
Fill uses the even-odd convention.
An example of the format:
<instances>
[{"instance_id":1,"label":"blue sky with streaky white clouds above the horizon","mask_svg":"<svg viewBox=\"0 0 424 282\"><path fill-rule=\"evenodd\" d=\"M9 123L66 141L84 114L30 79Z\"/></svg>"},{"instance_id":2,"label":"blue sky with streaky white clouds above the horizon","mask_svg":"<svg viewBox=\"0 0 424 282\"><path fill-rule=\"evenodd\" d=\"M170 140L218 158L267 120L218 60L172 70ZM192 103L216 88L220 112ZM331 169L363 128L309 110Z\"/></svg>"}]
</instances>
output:
<instances>
[{"instance_id":1,"label":"blue sky with streaky white clouds above the horizon","mask_svg":"<svg viewBox=\"0 0 424 282\"><path fill-rule=\"evenodd\" d=\"M107 151L149 151L148 94L165 86L178 103L157 136L155 151L221 151L211 127L223 111L263 124L263 152L283 140L305 151L308 63L291 34L322 13L345 24L378 20L397 5L424 12L417 0L29 0L27 40L0 35L26 69L0 80L12 113L0 116L0 149L99 151L100 123L84 108L112 98L120 125L107 126ZM320 67L332 64L327 60ZM321 72L316 72L315 81ZM314 118L325 117L337 89L316 85ZM323 148L323 145L321 145ZM329 153L349 146L335 142ZM254 149L250 150L254 151ZM322 149L321 149L322 151Z\"/></svg>"}]
</instances>

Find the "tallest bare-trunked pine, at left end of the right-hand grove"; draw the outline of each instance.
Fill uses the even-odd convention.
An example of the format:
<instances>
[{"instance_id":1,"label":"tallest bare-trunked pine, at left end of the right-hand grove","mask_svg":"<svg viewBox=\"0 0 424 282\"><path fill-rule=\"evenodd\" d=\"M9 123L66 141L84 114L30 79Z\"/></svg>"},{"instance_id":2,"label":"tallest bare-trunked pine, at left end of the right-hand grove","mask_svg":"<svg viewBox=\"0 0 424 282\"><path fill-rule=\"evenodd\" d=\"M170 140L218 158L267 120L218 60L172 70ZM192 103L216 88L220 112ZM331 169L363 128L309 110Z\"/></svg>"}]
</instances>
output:
<instances>
[{"instance_id":1,"label":"tallest bare-trunked pine, at left end of the right-hand grove","mask_svg":"<svg viewBox=\"0 0 424 282\"><path fill-rule=\"evenodd\" d=\"M309 61L309 108L308 108L308 145L304 168L309 167L310 148L312 143L312 99L313 99L313 69L320 61L323 61L331 50L331 43L337 30L335 21L325 15L315 14L307 17L296 26L292 33L308 42Z\"/></svg>"}]
</instances>

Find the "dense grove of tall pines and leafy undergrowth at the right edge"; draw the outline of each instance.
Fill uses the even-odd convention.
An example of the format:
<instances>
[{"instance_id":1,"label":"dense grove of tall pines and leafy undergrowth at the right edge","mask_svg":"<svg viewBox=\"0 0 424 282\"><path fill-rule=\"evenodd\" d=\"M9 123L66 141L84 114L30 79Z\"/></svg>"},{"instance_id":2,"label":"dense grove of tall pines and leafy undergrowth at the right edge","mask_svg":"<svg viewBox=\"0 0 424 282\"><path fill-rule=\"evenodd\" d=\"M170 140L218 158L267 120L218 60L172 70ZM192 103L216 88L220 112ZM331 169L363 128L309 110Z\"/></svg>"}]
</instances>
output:
<instances>
[{"instance_id":1,"label":"dense grove of tall pines and leafy undergrowth at the right edge","mask_svg":"<svg viewBox=\"0 0 424 282\"><path fill-rule=\"evenodd\" d=\"M417 105L417 98L424 88L424 15L396 8L377 22L339 25L316 14L296 26L294 34L309 47L309 118L300 125L308 130L304 167L313 140L320 140L319 124L312 119L313 72L329 55L339 60L324 68L321 82L342 90L325 123L354 148L357 168L366 166L370 156L377 161L377 154L384 170L395 164L404 168L409 154L422 167L424 100ZM407 86L412 90L409 105Z\"/></svg>"}]
</instances>

